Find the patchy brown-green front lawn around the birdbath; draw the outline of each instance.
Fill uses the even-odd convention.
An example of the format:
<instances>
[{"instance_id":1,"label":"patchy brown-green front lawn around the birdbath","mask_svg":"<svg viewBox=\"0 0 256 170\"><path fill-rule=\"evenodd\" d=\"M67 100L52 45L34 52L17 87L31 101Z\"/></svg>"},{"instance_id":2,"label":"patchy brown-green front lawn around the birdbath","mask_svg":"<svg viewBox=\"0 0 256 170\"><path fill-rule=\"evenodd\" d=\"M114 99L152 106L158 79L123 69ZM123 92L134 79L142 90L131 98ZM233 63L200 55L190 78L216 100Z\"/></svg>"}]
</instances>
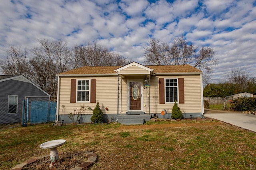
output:
<instances>
[{"instance_id":1,"label":"patchy brown-green front lawn around the birdbath","mask_svg":"<svg viewBox=\"0 0 256 170\"><path fill-rule=\"evenodd\" d=\"M90 150L98 154L92 170L256 169L256 133L226 123L175 124L152 129L145 128L148 125L132 129L118 124L46 124L2 130L0 169L49 154L39 145L54 139L66 139L63 152Z\"/></svg>"}]
</instances>

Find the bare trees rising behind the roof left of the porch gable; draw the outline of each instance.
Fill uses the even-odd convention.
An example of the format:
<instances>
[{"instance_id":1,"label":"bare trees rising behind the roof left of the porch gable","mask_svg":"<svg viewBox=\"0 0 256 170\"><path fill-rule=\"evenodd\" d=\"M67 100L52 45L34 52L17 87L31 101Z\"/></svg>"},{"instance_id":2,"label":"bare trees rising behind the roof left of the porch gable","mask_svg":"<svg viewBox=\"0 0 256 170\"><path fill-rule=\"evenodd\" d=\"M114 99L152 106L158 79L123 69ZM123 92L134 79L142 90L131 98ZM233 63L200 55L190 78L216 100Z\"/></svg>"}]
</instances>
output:
<instances>
[{"instance_id":1,"label":"bare trees rising behind the roof left of the porch gable","mask_svg":"<svg viewBox=\"0 0 256 170\"><path fill-rule=\"evenodd\" d=\"M130 62L120 53L110 51L97 41L86 46L74 45L73 49L80 59L80 66L123 66Z\"/></svg>"}]
</instances>

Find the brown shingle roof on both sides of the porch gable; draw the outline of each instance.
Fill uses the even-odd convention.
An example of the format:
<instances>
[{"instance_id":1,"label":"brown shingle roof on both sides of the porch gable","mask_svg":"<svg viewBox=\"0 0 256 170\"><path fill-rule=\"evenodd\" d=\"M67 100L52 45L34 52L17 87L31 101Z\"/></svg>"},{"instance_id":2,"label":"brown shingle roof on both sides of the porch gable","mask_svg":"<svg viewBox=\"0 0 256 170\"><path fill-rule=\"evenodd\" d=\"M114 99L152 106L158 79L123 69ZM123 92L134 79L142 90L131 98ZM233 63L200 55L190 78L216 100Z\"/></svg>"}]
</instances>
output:
<instances>
[{"instance_id":1,"label":"brown shingle roof on both sides of the porch gable","mask_svg":"<svg viewBox=\"0 0 256 170\"><path fill-rule=\"evenodd\" d=\"M61 75L68 74L114 74L116 73L114 70L120 68L122 66L83 66L80 68L76 68L74 70L69 70L66 72L60 73ZM154 73L168 73L168 72L176 72L176 73L186 73L186 72L202 72L193 66L188 64L185 65L162 65L162 66L147 66L149 68L154 69Z\"/></svg>"}]
</instances>

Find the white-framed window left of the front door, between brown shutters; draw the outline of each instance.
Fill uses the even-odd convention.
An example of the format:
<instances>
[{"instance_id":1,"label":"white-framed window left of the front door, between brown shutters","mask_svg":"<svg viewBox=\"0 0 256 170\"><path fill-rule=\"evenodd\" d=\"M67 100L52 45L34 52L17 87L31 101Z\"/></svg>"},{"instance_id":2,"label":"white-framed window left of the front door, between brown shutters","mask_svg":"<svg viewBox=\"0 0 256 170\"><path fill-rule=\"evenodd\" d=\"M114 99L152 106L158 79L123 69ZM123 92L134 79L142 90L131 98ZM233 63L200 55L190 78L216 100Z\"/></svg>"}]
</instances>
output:
<instances>
[{"instance_id":1,"label":"white-framed window left of the front door, between brown shutters","mask_svg":"<svg viewBox=\"0 0 256 170\"><path fill-rule=\"evenodd\" d=\"M90 80L77 80L77 101L89 102Z\"/></svg>"}]
</instances>

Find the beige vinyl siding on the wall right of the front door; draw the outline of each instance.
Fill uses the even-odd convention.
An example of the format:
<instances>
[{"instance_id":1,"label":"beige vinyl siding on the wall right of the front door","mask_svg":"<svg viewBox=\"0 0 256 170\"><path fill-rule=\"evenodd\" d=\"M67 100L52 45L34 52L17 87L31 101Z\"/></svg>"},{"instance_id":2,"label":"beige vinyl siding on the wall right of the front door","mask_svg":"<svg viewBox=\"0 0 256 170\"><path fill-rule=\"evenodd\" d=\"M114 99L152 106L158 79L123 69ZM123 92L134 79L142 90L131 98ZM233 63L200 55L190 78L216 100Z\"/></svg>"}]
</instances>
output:
<instances>
[{"instance_id":1,"label":"beige vinyl siding on the wall right of the front door","mask_svg":"<svg viewBox=\"0 0 256 170\"><path fill-rule=\"evenodd\" d=\"M158 78L184 78L185 104L178 104L182 113L201 113L200 75L187 76L152 76L150 81L150 113L161 113L169 109L170 113L174 104L159 104L159 79ZM145 94L144 94L145 95ZM148 112L148 108L147 108Z\"/></svg>"}]
</instances>

